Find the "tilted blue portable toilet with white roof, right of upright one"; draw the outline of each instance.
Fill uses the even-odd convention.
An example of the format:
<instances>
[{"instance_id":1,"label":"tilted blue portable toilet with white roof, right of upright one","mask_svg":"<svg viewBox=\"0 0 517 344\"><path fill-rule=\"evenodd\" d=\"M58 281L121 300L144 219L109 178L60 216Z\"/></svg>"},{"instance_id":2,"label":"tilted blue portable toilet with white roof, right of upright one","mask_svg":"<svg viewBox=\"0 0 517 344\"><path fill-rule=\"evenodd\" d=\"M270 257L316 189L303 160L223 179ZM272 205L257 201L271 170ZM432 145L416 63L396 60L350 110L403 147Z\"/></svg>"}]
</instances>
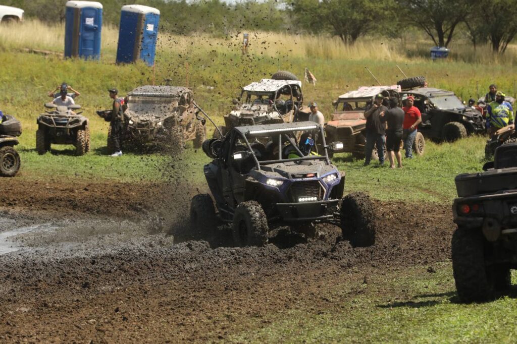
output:
<instances>
[{"instance_id":1,"label":"tilted blue portable toilet with white roof, right of upright one","mask_svg":"<svg viewBox=\"0 0 517 344\"><path fill-rule=\"evenodd\" d=\"M142 5L126 5L120 14L117 63L142 59L148 66L155 63L156 39L160 11Z\"/></svg>"}]
</instances>

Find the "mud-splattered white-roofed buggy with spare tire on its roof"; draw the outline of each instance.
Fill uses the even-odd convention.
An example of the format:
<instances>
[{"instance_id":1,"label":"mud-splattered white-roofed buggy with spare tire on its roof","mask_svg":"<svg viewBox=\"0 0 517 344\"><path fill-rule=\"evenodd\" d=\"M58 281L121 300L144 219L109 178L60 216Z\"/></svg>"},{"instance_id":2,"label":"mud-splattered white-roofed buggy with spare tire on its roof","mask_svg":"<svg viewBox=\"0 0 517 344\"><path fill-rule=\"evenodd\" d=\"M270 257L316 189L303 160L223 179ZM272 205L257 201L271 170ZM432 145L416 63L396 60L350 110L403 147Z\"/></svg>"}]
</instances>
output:
<instances>
[{"instance_id":1,"label":"mud-splattered white-roofed buggy with spare tire on its roof","mask_svg":"<svg viewBox=\"0 0 517 344\"><path fill-rule=\"evenodd\" d=\"M294 75L291 79L277 80L287 77L290 73L278 72L272 79L262 79L242 88L240 97L233 100L234 110L224 116L221 132L225 134L239 126L307 120L309 110L302 110L301 82ZM218 135L215 131L214 137L220 138Z\"/></svg>"}]
</instances>

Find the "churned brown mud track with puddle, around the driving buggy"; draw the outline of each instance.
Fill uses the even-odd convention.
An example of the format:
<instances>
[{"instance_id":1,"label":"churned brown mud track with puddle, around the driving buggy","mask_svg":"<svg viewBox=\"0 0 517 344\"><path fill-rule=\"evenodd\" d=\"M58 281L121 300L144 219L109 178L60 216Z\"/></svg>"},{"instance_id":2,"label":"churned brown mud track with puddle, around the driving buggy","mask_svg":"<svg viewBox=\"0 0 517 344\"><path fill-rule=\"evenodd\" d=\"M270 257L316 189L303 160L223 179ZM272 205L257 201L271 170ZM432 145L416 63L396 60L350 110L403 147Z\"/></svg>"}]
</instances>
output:
<instances>
[{"instance_id":1,"label":"churned brown mud track with puddle, around the driving buggy","mask_svg":"<svg viewBox=\"0 0 517 344\"><path fill-rule=\"evenodd\" d=\"M8 196L14 190L25 192ZM329 286L343 280L366 283L371 274L449 258L450 207L430 204L376 202L377 242L368 248L337 242L330 226L320 227L321 240L277 240L287 248L174 244L169 228L184 228L187 212L167 201L171 190L187 190L175 205L194 192L56 182L35 191L9 180L0 232L47 225L19 234L24 248L0 256L0 341L217 341L264 326L271 314L328 306ZM157 201L148 201L150 192ZM65 216L56 217L56 207Z\"/></svg>"}]
</instances>

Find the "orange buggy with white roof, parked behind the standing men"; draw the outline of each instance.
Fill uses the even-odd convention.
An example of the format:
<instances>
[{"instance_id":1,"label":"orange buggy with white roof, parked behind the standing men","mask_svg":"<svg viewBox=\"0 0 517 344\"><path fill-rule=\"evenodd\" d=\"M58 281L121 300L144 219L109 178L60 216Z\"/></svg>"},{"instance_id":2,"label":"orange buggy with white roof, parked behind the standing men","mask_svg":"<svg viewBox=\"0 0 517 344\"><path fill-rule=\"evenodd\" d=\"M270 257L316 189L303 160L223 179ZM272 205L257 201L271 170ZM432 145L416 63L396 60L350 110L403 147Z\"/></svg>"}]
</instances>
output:
<instances>
[{"instance_id":1,"label":"orange buggy with white roof, parked behind the standing men","mask_svg":"<svg viewBox=\"0 0 517 344\"><path fill-rule=\"evenodd\" d=\"M364 159L364 145L366 144L366 118L364 110L372 104L379 93L386 98L400 98L400 86L363 86L355 91L349 91L334 101L332 120L325 123L327 140L343 143L342 152L351 152L354 158ZM422 155L425 149L425 140L421 133L417 133L413 150ZM378 159L377 149L372 153L373 159Z\"/></svg>"}]
</instances>

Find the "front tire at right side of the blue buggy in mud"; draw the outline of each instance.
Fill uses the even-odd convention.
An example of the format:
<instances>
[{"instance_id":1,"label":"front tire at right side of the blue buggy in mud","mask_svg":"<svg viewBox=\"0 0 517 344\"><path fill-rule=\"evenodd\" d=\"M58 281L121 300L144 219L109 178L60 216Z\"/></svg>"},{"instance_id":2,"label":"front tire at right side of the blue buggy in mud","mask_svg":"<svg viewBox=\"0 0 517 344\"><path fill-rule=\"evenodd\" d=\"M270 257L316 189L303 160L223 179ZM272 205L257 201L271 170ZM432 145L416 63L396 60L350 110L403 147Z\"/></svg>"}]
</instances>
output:
<instances>
[{"instance_id":1,"label":"front tire at right side of the blue buggy in mud","mask_svg":"<svg viewBox=\"0 0 517 344\"><path fill-rule=\"evenodd\" d=\"M341 231L343 239L349 240L354 247L367 247L375 243L375 212L368 195L355 192L343 197Z\"/></svg>"}]
</instances>

